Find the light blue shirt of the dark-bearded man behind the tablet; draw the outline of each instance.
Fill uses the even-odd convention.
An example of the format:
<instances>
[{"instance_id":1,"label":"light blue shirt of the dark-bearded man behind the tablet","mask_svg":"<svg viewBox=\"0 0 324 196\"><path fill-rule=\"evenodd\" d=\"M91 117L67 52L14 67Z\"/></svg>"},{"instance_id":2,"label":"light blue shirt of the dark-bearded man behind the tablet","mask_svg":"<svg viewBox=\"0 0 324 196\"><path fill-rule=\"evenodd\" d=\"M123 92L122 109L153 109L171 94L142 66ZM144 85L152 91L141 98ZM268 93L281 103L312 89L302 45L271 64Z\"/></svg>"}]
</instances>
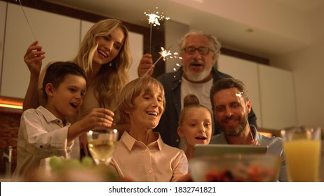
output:
<instances>
[{"instance_id":1,"label":"light blue shirt of the dark-bearded man behind the tablet","mask_svg":"<svg viewBox=\"0 0 324 196\"><path fill-rule=\"evenodd\" d=\"M285 153L283 152L283 140L279 137L267 137L257 132L257 128L250 125L251 131L255 135L255 141L258 141L260 146L268 146L267 153L270 155L278 155L281 157L281 169L278 181L288 181L287 169L285 165ZM212 136L209 144L229 144L225 134L217 134Z\"/></svg>"}]
</instances>

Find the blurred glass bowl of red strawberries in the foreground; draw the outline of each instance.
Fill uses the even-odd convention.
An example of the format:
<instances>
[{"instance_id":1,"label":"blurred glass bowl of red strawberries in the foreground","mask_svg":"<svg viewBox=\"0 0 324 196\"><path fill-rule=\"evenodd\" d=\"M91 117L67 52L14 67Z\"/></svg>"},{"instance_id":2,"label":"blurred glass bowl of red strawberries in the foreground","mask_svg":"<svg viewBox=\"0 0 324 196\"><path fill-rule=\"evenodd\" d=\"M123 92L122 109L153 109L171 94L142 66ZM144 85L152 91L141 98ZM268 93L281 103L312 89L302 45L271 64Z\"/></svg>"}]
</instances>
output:
<instances>
[{"instance_id":1,"label":"blurred glass bowl of red strawberries in the foreground","mask_svg":"<svg viewBox=\"0 0 324 196\"><path fill-rule=\"evenodd\" d=\"M277 181L281 158L276 155L236 154L189 160L195 182L271 182Z\"/></svg>"}]
</instances>

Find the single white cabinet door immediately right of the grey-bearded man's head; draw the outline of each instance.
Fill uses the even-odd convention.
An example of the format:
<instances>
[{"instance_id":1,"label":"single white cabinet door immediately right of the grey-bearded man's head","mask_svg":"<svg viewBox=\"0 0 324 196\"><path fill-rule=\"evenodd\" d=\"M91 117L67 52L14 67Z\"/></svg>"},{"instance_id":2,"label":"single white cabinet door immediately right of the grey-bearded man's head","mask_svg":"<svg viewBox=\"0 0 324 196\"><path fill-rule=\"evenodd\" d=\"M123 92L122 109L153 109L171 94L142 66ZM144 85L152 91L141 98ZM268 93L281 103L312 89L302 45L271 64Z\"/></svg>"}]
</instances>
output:
<instances>
[{"instance_id":1,"label":"single white cabinet door immediately right of the grey-bearded man's head","mask_svg":"<svg viewBox=\"0 0 324 196\"><path fill-rule=\"evenodd\" d=\"M263 127L259 98L257 63L227 55L220 55L220 58L218 59L218 70L241 80L245 84L248 91L248 97L252 103L252 109L257 116L257 126Z\"/></svg>"}]
</instances>

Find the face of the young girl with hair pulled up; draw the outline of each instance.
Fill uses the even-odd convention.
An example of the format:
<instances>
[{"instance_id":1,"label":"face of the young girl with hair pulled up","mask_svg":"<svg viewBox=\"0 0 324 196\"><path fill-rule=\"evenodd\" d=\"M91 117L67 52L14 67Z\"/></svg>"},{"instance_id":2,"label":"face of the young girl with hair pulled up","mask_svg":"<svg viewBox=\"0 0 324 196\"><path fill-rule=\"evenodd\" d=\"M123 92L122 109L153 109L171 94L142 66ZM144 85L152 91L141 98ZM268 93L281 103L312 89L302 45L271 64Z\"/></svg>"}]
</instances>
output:
<instances>
[{"instance_id":1,"label":"face of the young girl with hair pulled up","mask_svg":"<svg viewBox=\"0 0 324 196\"><path fill-rule=\"evenodd\" d=\"M210 111L202 106L187 109L177 132L187 140L188 146L209 144L212 135Z\"/></svg>"}]
</instances>

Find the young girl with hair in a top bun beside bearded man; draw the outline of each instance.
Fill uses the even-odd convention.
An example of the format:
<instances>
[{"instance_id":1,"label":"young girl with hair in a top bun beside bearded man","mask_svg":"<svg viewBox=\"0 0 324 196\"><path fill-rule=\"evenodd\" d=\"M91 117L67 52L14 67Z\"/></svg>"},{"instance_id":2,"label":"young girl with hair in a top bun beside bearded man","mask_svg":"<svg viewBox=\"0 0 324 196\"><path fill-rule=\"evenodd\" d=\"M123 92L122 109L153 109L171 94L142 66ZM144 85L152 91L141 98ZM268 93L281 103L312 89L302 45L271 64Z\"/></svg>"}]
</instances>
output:
<instances>
[{"instance_id":1,"label":"young girl with hair in a top bun beside bearded man","mask_svg":"<svg viewBox=\"0 0 324 196\"><path fill-rule=\"evenodd\" d=\"M187 141L186 155L192 158L196 144L209 144L212 136L212 113L199 104L194 94L184 97L184 108L180 112L180 121L177 132Z\"/></svg>"}]
</instances>

